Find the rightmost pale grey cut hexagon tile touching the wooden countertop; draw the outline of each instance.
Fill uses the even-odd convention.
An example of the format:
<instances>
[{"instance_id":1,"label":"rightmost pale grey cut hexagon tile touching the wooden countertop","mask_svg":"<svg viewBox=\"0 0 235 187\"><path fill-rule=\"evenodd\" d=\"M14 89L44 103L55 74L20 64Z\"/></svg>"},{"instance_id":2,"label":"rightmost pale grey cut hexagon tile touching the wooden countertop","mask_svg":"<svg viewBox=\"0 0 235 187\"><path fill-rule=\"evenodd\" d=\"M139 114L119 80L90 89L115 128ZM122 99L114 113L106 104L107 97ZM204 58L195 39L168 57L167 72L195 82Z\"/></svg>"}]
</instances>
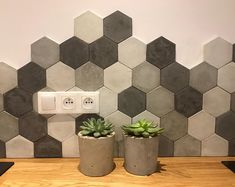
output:
<instances>
[{"instance_id":1,"label":"rightmost pale grey cut hexagon tile touching the wooden countertop","mask_svg":"<svg viewBox=\"0 0 235 187\"><path fill-rule=\"evenodd\" d=\"M202 156L227 156L228 141L213 134L202 141Z\"/></svg>"}]
</instances>

